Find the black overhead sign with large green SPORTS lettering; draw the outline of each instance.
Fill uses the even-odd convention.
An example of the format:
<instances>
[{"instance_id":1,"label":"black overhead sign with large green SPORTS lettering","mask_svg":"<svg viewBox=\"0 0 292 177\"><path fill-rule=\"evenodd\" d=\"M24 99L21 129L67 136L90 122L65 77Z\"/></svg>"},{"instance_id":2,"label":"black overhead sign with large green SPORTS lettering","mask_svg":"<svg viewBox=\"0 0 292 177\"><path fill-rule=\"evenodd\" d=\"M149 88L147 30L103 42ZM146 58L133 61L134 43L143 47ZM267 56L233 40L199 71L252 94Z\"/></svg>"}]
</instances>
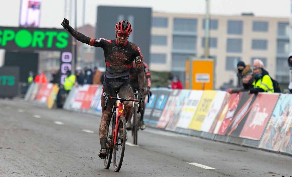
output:
<instances>
[{"instance_id":1,"label":"black overhead sign with large green SPORTS lettering","mask_svg":"<svg viewBox=\"0 0 292 177\"><path fill-rule=\"evenodd\" d=\"M71 51L72 35L64 29L0 27L0 48L7 51Z\"/></svg>"}]
</instances>

